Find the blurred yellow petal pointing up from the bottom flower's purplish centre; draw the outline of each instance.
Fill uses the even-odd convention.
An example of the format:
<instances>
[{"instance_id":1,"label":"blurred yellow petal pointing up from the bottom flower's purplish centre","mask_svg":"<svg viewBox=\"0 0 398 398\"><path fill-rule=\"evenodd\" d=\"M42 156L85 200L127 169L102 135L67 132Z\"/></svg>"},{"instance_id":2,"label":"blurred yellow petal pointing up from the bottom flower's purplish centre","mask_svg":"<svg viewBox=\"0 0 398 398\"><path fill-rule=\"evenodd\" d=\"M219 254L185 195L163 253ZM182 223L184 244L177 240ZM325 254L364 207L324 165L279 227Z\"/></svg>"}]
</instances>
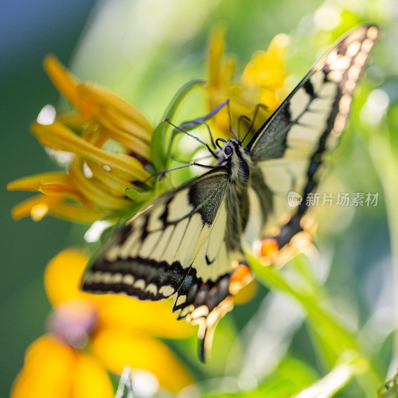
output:
<instances>
[{"instance_id":1,"label":"blurred yellow petal pointing up from the bottom flower's purplish centre","mask_svg":"<svg viewBox=\"0 0 398 398\"><path fill-rule=\"evenodd\" d=\"M89 258L77 249L65 249L57 254L44 271L44 287L53 306L73 298L102 301L105 297L79 290Z\"/></svg>"}]
</instances>

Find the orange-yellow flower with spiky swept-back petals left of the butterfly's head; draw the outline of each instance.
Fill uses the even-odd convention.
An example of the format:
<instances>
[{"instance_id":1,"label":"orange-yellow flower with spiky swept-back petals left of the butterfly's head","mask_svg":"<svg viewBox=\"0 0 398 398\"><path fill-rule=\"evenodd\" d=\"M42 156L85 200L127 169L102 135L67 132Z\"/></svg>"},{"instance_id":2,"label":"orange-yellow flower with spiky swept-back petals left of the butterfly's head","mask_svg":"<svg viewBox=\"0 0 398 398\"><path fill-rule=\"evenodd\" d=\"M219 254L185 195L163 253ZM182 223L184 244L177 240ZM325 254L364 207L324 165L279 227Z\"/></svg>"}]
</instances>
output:
<instances>
[{"instance_id":1,"label":"orange-yellow flower with spiky swept-back petals left of the butterfly's head","mask_svg":"<svg viewBox=\"0 0 398 398\"><path fill-rule=\"evenodd\" d=\"M54 56L44 68L60 93L75 108L55 115L46 105L31 125L38 141L52 151L73 156L67 172L25 177L8 190L38 191L13 208L18 219L47 213L91 223L115 217L134 205L124 191L149 188L150 139L153 126L136 108L93 83L79 82Z\"/></svg>"}]
</instances>

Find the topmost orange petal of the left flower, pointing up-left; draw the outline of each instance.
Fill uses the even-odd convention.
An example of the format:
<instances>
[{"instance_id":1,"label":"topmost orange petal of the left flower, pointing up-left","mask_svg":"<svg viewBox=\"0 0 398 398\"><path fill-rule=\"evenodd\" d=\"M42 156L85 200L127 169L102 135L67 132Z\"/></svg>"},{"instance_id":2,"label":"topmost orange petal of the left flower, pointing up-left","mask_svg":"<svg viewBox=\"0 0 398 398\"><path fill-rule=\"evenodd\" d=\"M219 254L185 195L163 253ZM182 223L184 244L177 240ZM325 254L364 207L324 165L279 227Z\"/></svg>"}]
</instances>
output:
<instances>
[{"instance_id":1,"label":"topmost orange petal of the left flower, pointing up-left","mask_svg":"<svg viewBox=\"0 0 398 398\"><path fill-rule=\"evenodd\" d=\"M78 79L50 54L44 58L43 66L57 90L72 104L78 104Z\"/></svg>"}]
</instances>

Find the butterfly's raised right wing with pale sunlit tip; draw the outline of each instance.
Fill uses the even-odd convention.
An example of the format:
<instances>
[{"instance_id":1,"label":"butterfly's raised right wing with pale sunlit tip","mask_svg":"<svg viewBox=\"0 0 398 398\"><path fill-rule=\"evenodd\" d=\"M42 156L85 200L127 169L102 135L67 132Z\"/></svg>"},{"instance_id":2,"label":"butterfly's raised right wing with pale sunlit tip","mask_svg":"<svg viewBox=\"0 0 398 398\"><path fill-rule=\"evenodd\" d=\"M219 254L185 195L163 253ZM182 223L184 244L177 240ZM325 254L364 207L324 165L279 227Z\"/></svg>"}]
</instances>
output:
<instances>
[{"instance_id":1,"label":"butterfly's raised right wing with pale sunlit tip","mask_svg":"<svg viewBox=\"0 0 398 398\"><path fill-rule=\"evenodd\" d=\"M316 185L315 173L325 150L342 132L352 94L378 28L362 25L334 45L258 130L247 148L272 193L266 229L288 210L288 194L301 195L298 212ZM258 193L261 197L261 193Z\"/></svg>"}]
</instances>

